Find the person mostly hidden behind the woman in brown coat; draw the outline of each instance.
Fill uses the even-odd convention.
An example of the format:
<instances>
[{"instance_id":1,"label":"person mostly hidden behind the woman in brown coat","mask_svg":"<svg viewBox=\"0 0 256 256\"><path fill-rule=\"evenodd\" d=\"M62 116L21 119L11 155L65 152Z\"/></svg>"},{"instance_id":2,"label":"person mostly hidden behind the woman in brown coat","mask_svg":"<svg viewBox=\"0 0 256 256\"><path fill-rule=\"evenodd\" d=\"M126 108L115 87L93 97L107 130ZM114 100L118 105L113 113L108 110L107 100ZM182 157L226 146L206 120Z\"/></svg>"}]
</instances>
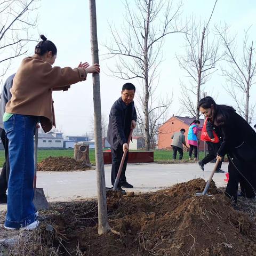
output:
<instances>
[{"instance_id":1,"label":"person mostly hidden behind the woman in brown coat","mask_svg":"<svg viewBox=\"0 0 256 256\"><path fill-rule=\"evenodd\" d=\"M3 115L5 112L5 105L12 97L10 89L12 87L14 76L15 74L9 76L6 79L3 86L1 99L0 99L0 137L1 137L1 140L4 146L4 151L5 151L5 162L3 164L3 168L0 174L0 203L7 203L6 190L7 190L9 174L10 174L9 150L8 150L9 140L7 139L4 131Z\"/></svg>"}]
</instances>

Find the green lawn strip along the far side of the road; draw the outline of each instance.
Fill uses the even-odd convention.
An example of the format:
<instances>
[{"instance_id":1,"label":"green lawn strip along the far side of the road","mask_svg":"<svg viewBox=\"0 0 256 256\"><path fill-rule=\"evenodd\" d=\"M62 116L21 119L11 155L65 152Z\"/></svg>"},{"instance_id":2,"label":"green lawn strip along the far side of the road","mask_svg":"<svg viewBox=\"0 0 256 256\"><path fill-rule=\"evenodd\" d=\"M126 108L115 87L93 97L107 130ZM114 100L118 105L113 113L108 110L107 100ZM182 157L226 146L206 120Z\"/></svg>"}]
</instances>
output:
<instances>
[{"instance_id":1,"label":"green lawn strip along the far side of the road","mask_svg":"<svg viewBox=\"0 0 256 256\"><path fill-rule=\"evenodd\" d=\"M52 156L68 156L73 157L74 156L74 150L73 149L39 149L38 150L38 162L41 162L43 159ZM179 156L179 154L178 154ZM95 164L95 153L94 149L90 149L89 153L90 161L92 164ZM204 153L200 153L199 158L202 159L204 157ZM188 159L188 152L184 152L183 159ZM168 150L155 150L154 151L154 161L171 161L172 160L172 151ZM3 166L4 163L4 150L0 150L0 167Z\"/></svg>"}]
</instances>

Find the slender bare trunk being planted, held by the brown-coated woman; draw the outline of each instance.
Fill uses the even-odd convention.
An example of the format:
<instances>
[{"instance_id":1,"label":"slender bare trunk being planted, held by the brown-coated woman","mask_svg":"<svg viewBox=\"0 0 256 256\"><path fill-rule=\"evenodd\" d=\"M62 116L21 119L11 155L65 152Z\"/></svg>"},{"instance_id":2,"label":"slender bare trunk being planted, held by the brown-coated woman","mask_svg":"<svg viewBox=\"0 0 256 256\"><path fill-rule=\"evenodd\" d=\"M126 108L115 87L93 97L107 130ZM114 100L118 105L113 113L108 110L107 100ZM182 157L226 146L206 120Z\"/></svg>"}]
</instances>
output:
<instances>
[{"instance_id":1,"label":"slender bare trunk being planted, held by the brown-coated woman","mask_svg":"<svg viewBox=\"0 0 256 256\"><path fill-rule=\"evenodd\" d=\"M99 63L99 50L97 38L97 17L95 0L90 0L90 23L91 23L91 53L92 62ZM105 185L105 172L102 152L101 134L101 101L100 101L100 76L97 73L92 75L93 79L93 105L94 105L94 140L95 140L95 160L97 169L98 187L98 214L99 214L99 235L110 230L107 214L107 198Z\"/></svg>"}]
</instances>

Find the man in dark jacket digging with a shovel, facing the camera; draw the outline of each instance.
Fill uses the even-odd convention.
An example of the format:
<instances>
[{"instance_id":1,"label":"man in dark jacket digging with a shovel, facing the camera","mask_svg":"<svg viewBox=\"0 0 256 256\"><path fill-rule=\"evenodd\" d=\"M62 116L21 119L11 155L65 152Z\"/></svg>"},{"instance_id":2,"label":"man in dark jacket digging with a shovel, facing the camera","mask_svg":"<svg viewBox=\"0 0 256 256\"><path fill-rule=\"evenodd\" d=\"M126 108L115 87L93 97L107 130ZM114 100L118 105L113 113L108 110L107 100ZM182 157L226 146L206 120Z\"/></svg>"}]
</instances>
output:
<instances>
[{"instance_id":1,"label":"man in dark jacket digging with a shovel, facing the camera","mask_svg":"<svg viewBox=\"0 0 256 256\"><path fill-rule=\"evenodd\" d=\"M127 139L129 137L131 126L135 128L137 114L134 107L135 86L132 83L123 85L121 97L115 101L111 107L109 114L107 140L111 146L112 169L111 183L114 186L117 172L121 163L122 156L125 150L129 150ZM128 161L128 153L125 157L122 173L120 176L118 189L133 188L126 181L125 170Z\"/></svg>"}]
</instances>

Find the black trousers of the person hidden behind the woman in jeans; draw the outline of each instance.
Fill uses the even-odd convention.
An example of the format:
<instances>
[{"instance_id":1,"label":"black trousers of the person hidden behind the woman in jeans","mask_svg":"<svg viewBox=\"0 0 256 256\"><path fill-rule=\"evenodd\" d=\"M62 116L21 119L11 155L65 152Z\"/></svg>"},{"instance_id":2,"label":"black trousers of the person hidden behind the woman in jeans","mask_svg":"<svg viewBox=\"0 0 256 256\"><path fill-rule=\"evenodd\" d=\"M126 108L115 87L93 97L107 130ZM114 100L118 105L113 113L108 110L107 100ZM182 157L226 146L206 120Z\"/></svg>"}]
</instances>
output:
<instances>
[{"instance_id":1,"label":"black trousers of the person hidden behind the woman in jeans","mask_svg":"<svg viewBox=\"0 0 256 256\"><path fill-rule=\"evenodd\" d=\"M4 146L5 151L5 162L0 174L0 196L5 195L8 180L9 180L9 174L10 174L10 164L9 164L9 150L8 150L8 144L9 140L6 137L4 129L0 128L0 137Z\"/></svg>"}]
</instances>

